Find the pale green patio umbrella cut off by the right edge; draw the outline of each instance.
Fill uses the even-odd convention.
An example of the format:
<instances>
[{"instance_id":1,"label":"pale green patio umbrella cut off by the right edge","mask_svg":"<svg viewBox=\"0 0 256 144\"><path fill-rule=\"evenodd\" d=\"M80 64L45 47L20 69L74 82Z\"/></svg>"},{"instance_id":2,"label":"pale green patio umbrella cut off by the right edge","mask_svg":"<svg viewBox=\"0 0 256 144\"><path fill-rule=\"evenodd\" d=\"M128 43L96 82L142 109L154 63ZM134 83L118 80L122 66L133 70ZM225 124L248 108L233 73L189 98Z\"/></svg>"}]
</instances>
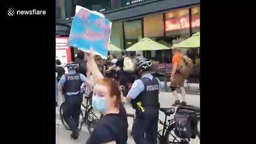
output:
<instances>
[{"instance_id":1,"label":"pale green patio umbrella cut off by the right edge","mask_svg":"<svg viewBox=\"0 0 256 144\"><path fill-rule=\"evenodd\" d=\"M200 47L200 32L195 33L192 37L187 38L184 41L181 41L178 44L174 44L172 47L184 47L184 48L192 48L192 47Z\"/></svg>"}]
</instances>

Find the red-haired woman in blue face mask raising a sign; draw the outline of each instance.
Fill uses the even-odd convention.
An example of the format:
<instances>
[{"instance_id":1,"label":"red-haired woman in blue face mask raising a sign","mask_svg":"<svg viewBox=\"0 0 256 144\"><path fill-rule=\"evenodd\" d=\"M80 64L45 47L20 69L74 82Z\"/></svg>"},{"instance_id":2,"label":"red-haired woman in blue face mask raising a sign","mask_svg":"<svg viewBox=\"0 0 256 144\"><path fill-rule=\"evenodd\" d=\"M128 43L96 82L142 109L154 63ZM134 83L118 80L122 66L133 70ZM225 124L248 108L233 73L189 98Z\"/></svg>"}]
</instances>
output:
<instances>
[{"instance_id":1,"label":"red-haired woman in blue face mask raising a sign","mask_svg":"<svg viewBox=\"0 0 256 144\"><path fill-rule=\"evenodd\" d=\"M115 144L127 142L127 115L121 104L121 94L112 79L104 78L94 60L94 52L88 56L88 70L94 77L93 109L103 113L97 121L87 144Z\"/></svg>"}]
</instances>

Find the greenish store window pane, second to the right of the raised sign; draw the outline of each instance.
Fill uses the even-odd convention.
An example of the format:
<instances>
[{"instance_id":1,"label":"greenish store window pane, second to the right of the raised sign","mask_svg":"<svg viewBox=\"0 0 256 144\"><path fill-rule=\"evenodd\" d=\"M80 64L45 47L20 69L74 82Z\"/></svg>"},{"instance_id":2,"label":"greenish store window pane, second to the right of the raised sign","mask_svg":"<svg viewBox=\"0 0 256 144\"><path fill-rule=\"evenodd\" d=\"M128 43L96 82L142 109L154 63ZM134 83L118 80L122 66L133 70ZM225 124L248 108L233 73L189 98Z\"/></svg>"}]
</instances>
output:
<instances>
[{"instance_id":1,"label":"greenish store window pane, second to the right of the raised sign","mask_svg":"<svg viewBox=\"0 0 256 144\"><path fill-rule=\"evenodd\" d=\"M142 38L141 20L124 22L125 49L137 43Z\"/></svg>"}]
</instances>

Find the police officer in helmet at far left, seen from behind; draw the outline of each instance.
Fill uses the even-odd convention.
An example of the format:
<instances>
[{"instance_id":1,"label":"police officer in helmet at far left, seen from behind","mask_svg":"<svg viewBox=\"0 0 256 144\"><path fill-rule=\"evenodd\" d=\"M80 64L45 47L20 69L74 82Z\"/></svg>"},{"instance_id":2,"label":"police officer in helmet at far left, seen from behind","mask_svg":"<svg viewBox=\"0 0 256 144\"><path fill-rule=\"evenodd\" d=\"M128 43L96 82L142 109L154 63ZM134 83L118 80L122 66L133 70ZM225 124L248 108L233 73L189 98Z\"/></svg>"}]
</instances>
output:
<instances>
[{"instance_id":1,"label":"police officer in helmet at far left, seen from behind","mask_svg":"<svg viewBox=\"0 0 256 144\"><path fill-rule=\"evenodd\" d=\"M73 139L78 139L79 115L83 100L81 85L83 82L89 83L89 81L84 74L76 73L78 64L75 62L67 64L66 67L69 73L62 76L58 83L58 89L66 99L62 116L72 130L70 136Z\"/></svg>"}]
</instances>

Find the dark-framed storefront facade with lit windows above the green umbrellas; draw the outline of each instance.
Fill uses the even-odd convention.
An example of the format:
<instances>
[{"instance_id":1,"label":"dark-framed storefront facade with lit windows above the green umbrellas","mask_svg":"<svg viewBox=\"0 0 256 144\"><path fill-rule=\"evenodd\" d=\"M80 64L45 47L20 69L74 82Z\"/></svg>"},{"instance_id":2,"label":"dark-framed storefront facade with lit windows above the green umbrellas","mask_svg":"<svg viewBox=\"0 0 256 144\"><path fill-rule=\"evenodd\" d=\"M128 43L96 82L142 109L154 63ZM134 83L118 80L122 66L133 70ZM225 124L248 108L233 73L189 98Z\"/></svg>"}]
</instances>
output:
<instances>
[{"instance_id":1,"label":"dark-framed storefront facade with lit windows above the green umbrellas","mask_svg":"<svg viewBox=\"0 0 256 144\"><path fill-rule=\"evenodd\" d=\"M127 49L143 37L172 46L200 31L199 0L72 1L105 14L112 21L111 43L121 49ZM71 23L72 20L66 21L66 25ZM170 62L172 56L171 50L146 55L160 62Z\"/></svg>"}]
</instances>

